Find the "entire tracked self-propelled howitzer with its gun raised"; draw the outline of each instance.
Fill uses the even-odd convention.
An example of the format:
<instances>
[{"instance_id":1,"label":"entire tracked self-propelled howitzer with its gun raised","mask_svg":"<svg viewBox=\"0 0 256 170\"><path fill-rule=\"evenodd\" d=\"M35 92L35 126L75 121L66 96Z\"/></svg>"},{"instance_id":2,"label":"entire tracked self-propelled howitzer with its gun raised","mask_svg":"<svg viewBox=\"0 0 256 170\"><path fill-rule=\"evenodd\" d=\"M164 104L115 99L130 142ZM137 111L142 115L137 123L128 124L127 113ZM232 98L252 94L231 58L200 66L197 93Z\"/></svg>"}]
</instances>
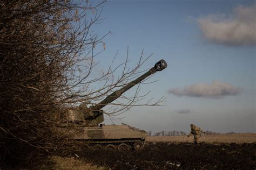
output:
<instances>
[{"instance_id":1,"label":"entire tracked self-propelled howitzer with its gun raised","mask_svg":"<svg viewBox=\"0 0 256 170\"><path fill-rule=\"evenodd\" d=\"M120 97L125 91L142 82L146 77L161 71L167 67L164 60L158 61L154 67L136 80L128 83L123 88L114 91L103 101L87 108L85 103L79 105L77 109L69 109L67 124L62 126L65 133L73 134L72 139L83 141L81 145L91 148L105 148L106 150L141 150L147 133L132 126L104 125L103 107ZM70 124L75 124L71 128ZM75 127L75 128L74 128Z\"/></svg>"}]
</instances>

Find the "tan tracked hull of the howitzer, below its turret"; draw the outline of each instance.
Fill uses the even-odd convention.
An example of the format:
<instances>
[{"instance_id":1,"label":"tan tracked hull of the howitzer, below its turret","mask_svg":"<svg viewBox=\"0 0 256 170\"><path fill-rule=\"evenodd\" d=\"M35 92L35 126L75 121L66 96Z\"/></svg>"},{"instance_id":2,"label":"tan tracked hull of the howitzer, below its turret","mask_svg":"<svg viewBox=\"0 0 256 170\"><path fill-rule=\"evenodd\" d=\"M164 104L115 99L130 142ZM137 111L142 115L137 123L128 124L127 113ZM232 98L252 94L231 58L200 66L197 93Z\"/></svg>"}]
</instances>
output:
<instances>
[{"instance_id":1,"label":"tan tracked hull of the howitzer, below its turret","mask_svg":"<svg viewBox=\"0 0 256 170\"><path fill-rule=\"evenodd\" d=\"M100 125L92 127L64 126L61 128L66 136L72 140L79 141L79 147L91 148L93 150L142 150L147 132L132 126L122 125Z\"/></svg>"}]
</instances>

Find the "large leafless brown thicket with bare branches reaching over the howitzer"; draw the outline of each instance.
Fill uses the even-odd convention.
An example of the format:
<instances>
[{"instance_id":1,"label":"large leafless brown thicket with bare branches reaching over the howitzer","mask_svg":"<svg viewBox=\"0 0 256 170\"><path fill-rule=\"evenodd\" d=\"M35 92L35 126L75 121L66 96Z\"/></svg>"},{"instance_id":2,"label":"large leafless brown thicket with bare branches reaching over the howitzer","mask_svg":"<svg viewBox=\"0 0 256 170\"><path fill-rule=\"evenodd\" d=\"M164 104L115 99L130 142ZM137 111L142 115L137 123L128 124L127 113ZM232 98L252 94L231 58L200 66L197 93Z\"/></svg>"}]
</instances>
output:
<instances>
[{"instance_id":1,"label":"large leafless brown thicket with bare branches reaching over the howitzer","mask_svg":"<svg viewBox=\"0 0 256 170\"><path fill-rule=\"evenodd\" d=\"M102 5L87 1L1 1L0 9L0 152L1 160L32 165L40 155L64 147L66 140L52 131L59 117L77 103L95 104L136 78L147 60L137 66L126 60L93 76L95 57L105 49L91 27L99 22ZM103 45L101 51L96 50ZM142 54L143 55L143 54ZM122 74L114 76L119 68ZM95 86L97 84L98 86ZM97 87L97 88L95 88ZM107 114L116 116L146 94L122 95Z\"/></svg>"}]
</instances>

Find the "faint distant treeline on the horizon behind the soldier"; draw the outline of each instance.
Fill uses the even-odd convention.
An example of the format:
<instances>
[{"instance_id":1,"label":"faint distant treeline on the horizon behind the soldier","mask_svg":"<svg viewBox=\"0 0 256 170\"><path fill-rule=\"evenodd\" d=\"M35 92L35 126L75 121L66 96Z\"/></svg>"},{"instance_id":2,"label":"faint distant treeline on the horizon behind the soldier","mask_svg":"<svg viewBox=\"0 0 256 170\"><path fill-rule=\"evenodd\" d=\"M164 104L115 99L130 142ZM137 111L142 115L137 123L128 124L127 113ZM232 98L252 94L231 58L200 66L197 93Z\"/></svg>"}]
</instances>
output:
<instances>
[{"instance_id":1,"label":"faint distant treeline on the horizon behind the soldier","mask_svg":"<svg viewBox=\"0 0 256 170\"><path fill-rule=\"evenodd\" d=\"M219 132L213 132L213 131L205 131L205 134L235 134L235 132L228 132L228 133L219 133ZM187 135L186 132L184 131L159 131L159 132L154 132L148 131L147 132L148 136L185 136Z\"/></svg>"}]
</instances>

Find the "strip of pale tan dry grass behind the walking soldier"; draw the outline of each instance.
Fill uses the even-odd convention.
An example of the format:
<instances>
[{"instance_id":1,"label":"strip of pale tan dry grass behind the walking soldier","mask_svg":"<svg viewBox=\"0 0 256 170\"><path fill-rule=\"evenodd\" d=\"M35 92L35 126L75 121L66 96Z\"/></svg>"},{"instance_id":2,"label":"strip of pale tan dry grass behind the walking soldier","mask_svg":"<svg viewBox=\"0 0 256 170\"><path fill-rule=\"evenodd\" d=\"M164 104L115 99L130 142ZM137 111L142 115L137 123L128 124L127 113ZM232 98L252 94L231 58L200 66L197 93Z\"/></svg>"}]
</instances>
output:
<instances>
[{"instance_id":1,"label":"strip of pale tan dry grass behind the walking soldier","mask_svg":"<svg viewBox=\"0 0 256 170\"><path fill-rule=\"evenodd\" d=\"M169 141L173 143L180 142L193 142L193 136L187 138L187 136L152 136L147 137L146 141L159 142L159 141ZM217 134L217 135L203 135L199 139L201 142L205 143L255 143L256 133L238 133L238 134Z\"/></svg>"}]
</instances>

